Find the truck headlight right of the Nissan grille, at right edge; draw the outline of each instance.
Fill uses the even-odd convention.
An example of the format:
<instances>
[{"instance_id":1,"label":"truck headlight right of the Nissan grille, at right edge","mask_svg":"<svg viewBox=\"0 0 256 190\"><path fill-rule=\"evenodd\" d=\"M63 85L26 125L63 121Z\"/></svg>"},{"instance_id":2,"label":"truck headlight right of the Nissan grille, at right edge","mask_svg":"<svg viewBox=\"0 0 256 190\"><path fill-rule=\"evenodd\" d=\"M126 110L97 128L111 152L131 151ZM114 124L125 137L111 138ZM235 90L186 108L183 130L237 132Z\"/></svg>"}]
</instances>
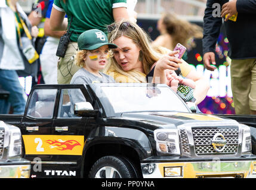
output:
<instances>
[{"instance_id":1,"label":"truck headlight right of the Nissan grille, at right edge","mask_svg":"<svg viewBox=\"0 0 256 190\"><path fill-rule=\"evenodd\" d=\"M240 124L240 126L243 131L242 153L251 153L252 151L251 129L247 125Z\"/></svg>"}]
</instances>

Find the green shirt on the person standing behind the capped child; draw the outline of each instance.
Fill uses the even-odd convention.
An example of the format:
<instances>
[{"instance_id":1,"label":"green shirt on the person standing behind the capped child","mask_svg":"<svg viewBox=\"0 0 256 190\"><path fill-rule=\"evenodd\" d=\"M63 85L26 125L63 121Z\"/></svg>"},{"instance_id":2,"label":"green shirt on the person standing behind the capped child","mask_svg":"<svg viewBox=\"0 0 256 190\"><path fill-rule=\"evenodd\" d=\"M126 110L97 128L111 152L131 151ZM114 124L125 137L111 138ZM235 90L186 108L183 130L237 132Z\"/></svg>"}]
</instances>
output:
<instances>
[{"instance_id":1,"label":"green shirt on the person standing behind the capped child","mask_svg":"<svg viewBox=\"0 0 256 190\"><path fill-rule=\"evenodd\" d=\"M53 7L66 12L68 23L73 15L70 40L77 42L81 33L86 30L98 29L107 33L106 27L112 24L113 8L127 7L127 0L54 0Z\"/></svg>"}]
</instances>

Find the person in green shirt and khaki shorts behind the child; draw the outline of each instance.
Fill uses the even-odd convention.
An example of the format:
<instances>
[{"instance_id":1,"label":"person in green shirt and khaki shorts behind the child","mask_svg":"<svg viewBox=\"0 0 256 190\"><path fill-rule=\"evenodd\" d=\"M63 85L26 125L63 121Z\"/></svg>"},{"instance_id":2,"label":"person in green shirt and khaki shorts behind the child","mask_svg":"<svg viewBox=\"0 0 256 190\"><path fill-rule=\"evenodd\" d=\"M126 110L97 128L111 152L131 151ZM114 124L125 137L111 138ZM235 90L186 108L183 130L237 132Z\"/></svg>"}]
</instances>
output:
<instances>
[{"instance_id":1,"label":"person in green shirt and khaki shorts behind the child","mask_svg":"<svg viewBox=\"0 0 256 190\"><path fill-rule=\"evenodd\" d=\"M66 14L67 20L64 19ZM69 24L72 32L66 55L58 61L58 84L69 84L72 76L80 68L75 65L78 36L90 29L106 32L107 25L123 18L129 18L126 0L54 0L50 17L51 29L67 30Z\"/></svg>"}]
</instances>

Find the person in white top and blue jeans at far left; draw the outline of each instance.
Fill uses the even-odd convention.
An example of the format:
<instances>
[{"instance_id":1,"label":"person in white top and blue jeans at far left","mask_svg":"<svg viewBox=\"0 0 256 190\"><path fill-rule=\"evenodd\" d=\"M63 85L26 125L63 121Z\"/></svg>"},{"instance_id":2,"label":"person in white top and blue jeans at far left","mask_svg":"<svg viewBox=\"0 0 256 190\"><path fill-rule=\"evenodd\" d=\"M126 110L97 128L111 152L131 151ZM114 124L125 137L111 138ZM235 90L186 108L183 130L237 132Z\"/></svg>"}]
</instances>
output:
<instances>
[{"instance_id":1,"label":"person in white top and blue jeans at far left","mask_svg":"<svg viewBox=\"0 0 256 190\"><path fill-rule=\"evenodd\" d=\"M11 106L14 114L23 114L27 96L16 70L24 70L24 61L31 58L24 50L30 48L29 52L35 53L35 49L30 21L17 0L0 1L0 30L0 85L10 92L2 113L9 113Z\"/></svg>"}]
</instances>

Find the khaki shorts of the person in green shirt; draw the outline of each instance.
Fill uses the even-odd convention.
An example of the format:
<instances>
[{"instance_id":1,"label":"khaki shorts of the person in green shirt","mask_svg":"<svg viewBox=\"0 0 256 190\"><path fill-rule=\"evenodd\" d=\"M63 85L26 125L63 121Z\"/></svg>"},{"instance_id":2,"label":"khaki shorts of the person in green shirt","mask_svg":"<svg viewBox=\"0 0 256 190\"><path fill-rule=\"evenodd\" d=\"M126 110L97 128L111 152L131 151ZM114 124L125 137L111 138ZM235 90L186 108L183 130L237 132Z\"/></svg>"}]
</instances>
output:
<instances>
[{"instance_id":1,"label":"khaki shorts of the person in green shirt","mask_svg":"<svg viewBox=\"0 0 256 190\"><path fill-rule=\"evenodd\" d=\"M64 58L58 60L58 84L69 84L75 72L81 68L75 65L77 48L78 43L70 42Z\"/></svg>"}]
</instances>

